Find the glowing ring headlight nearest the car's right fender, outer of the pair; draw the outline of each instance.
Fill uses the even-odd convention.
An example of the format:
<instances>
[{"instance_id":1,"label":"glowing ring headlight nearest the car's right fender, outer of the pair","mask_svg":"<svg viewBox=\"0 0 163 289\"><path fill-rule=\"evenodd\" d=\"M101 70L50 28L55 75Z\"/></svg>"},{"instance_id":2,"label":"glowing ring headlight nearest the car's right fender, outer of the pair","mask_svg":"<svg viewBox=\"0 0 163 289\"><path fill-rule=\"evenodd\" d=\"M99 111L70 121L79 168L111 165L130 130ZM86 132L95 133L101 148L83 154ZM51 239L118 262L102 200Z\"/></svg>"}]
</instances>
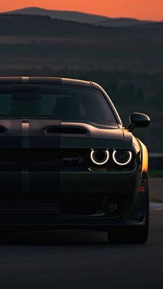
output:
<instances>
[{"instance_id":1,"label":"glowing ring headlight nearest the car's right fender, outer of the pair","mask_svg":"<svg viewBox=\"0 0 163 289\"><path fill-rule=\"evenodd\" d=\"M133 155L129 150L114 150L113 161L119 166L126 166L131 162Z\"/></svg>"}]
</instances>

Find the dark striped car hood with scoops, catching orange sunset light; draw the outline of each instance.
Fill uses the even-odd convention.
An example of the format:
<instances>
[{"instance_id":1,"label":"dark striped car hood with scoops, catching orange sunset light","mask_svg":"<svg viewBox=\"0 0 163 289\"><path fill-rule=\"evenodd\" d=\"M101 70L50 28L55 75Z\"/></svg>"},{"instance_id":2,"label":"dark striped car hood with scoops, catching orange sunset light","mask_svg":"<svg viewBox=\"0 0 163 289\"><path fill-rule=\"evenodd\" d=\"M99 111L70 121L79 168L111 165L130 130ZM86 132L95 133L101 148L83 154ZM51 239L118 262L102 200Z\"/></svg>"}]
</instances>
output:
<instances>
[{"instance_id":1,"label":"dark striped car hood with scoops, catching orange sunset light","mask_svg":"<svg viewBox=\"0 0 163 289\"><path fill-rule=\"evenodd\" d=\"M92 143L93 140L104 141L130 141L132 134L119 128L116 124L102 126L94 123L63 122L54 119L1 119L0 120L0 146L10 142L15 146L15 141L22 143L22 139L30 139L35 146L41 143L62 143L63 146L71 143ZM10 137L10 138L8 138ZM13 139L13 141L11 140ZM35 139L35 141L33 141ZM46 141L45 141L46 139ZM15 141L14 141L15 140ZM70 141L71 140L71 141ZM18 143L17 143L18 146Z\"/></svg>"}]
</instances>

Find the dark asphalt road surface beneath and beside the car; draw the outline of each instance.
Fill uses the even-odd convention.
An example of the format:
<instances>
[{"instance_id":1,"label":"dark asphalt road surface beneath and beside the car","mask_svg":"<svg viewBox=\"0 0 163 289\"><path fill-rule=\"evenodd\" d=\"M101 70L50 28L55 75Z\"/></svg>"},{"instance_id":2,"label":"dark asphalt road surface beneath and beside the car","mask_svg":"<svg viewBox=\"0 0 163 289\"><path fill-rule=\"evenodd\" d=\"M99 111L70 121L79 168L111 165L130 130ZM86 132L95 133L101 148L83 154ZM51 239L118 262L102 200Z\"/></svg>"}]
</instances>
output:
<instances>
[{"instance_id":1,"label":"dark asphalt road surface beneath and beside the car","mask_svg":"<svg viewBox=\"0 0 163 289\"><path fill-rule=\"evenodd\" d=\"M163 288L163 210L148 243L111 245L106 232L30 232L0 246L0 288Z\"/></svg>"}]
</instances>

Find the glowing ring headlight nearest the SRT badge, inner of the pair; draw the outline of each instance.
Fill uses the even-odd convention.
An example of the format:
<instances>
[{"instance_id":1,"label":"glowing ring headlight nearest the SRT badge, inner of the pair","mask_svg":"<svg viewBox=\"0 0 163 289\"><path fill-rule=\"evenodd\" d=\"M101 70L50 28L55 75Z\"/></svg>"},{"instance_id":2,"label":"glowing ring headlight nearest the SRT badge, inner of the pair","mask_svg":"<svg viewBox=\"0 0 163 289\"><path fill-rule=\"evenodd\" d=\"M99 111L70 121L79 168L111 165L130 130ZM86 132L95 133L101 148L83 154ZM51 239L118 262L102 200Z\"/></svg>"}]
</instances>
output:
<instances>
[{"instance_id":1,"label":"glowing ring headlight nearest the SRT badge, inner of the pair","mask_svg":"<svg viewBox=\"0 0 163 289\"><path fill-rule=\"evenodd\" d=\"M108 150L92 150L90 153L90 159L96 165L102 166L107 163L109 159L109 152Z\"/></svg>"}]
</instances>

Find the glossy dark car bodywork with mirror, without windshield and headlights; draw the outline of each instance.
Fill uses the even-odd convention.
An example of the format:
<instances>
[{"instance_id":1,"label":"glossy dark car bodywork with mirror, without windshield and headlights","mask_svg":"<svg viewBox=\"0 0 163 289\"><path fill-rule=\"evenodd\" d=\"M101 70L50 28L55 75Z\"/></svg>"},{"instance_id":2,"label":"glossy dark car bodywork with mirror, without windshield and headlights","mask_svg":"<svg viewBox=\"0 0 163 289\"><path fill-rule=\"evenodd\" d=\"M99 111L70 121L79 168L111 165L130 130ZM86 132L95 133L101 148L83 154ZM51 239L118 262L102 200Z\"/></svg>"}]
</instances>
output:
<instances>
[{"instance_id":1,"label":"glossy dark car bodywork with mirror, without windshield and headlights","mask_svg":"<svg viewBox=\"0 0 163 289\"><path fill-rule=\"evenodd\" d=\"M96 88L106 98L117 123L107 126L54 119L0 119L1 228L108 230L113 226L144 226L148 152L124 128L106 92L91 81L0 78L0 86L23 83ZM147 126L148 122L144 114L131 116L135 126ZM99 167L91 162L92 149L108 150L108 164ZM132 152L130 166L117 166L114 150Z\"/></svg>"}]
</instances>

